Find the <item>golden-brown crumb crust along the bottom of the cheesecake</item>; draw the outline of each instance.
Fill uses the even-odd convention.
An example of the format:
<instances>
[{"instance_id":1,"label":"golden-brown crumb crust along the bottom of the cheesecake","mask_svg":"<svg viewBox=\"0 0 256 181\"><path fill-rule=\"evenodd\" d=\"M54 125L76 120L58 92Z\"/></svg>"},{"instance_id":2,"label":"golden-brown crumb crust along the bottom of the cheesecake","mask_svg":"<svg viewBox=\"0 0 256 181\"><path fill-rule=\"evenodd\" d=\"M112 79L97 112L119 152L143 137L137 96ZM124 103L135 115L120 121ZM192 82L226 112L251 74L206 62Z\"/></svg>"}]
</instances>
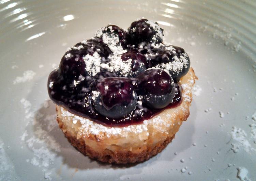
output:
<instances>
[{"instance_id":1,"label":"golden-brown crumb crust along the bottom of the cheesecake","mask_svg":"<svg viewBox=\"0 0 256 181\"><path fill-rule=\"evenodd\" d=\"M101 162L108 163L126 164L148 160L157 153L160 153L175 137L175 135L171 137L167 136L167 138L162 143L157 143L154 147L141 149L141 151L136 151L136 153L122 150L113 152L107 149L105 149L103 153L98 153L87 146L82 138L77 139L75 136L72 136L68 131L66 131L65 125L60 120L60 118L57 117L57 121L59 123L60 129L62 131L65 130L63 133L72 146L76 147L81 153L87 155L91 159L97 159Z\"/></svg>"}]
</instances>

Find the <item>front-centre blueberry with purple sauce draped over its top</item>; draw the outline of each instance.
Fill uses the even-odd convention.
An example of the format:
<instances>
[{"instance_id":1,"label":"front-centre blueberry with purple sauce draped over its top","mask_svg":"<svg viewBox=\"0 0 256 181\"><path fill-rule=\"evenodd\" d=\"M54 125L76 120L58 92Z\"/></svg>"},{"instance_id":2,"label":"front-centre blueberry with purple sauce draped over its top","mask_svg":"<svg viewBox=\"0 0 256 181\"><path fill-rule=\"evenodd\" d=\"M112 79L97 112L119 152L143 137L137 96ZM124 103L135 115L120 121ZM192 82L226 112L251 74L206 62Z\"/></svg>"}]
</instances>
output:
<instances>
[{"instance_id":1,"label":"front-centre blueberry with purple sauce draped over its top","mask_svg":"<svg viewBox=\"0 0 256 181\"><path fill-rule=\"evenodd\" d=\"M105 78L97 81L94 106L96 110L110 118L120 118L132 113L137 105L137 94L129 78Z\"/></svg>"}]
</instances>

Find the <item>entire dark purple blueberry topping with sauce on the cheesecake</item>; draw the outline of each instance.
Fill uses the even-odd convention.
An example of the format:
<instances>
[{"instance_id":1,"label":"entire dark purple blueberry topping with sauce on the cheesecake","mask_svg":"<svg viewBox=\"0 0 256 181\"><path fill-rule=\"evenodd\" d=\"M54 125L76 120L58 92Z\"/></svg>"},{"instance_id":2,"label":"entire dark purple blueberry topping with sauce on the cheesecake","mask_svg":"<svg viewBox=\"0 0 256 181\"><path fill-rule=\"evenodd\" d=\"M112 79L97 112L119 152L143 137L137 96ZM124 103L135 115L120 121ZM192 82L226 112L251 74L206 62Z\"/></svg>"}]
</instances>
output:
<instances>
[{"instance_id":1,"label":"entire dark purple blueberry topping with sauce on the cheesecake","mask_svg":"<svg viewBox=\"0 0 256 181\"><path fill-rule=\"evenodd\" d=\"M153 21L115 25L67 49L48 78L49 97L105 126L139 124L182 101L179 79L190 68L184 49L163 43Z\"/></svg>"}]
</instances>

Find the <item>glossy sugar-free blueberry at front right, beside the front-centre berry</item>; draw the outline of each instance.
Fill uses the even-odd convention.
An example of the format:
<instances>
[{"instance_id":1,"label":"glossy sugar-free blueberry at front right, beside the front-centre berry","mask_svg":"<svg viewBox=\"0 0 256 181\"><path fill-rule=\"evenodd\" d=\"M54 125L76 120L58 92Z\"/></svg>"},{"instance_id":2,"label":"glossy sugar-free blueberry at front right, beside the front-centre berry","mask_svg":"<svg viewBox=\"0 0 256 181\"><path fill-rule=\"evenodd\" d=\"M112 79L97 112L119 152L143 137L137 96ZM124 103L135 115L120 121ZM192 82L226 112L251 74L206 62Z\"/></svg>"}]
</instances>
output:
<instances>
[{"instance_id":1,"label":"glossy sugar-free blueberry at front right, beside the front-centre berry","mask_svg":"<svg viewBox=\"0 0 256 181\"><path fill-rule=\"evenodd\" d=\"M166 107L175 95L171 76L162 69L148 69L137 76L137 86L142 101L154 109Z\"/></svg>"}]
</instances>

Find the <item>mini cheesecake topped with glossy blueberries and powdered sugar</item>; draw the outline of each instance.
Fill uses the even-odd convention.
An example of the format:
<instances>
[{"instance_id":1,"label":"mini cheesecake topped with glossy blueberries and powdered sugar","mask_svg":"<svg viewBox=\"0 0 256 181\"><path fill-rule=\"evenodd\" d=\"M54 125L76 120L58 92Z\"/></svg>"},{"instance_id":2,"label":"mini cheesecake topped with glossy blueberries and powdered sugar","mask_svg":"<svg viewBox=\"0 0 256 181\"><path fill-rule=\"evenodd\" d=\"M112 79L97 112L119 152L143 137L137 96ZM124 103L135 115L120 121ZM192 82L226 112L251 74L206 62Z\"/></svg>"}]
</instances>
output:
<instances>
[{"instance_id":1,"label":"mini cheesecake topped with glossy blueberries and powdered sugar","mask_svg":"<svg viewBox=\"0 0 256 181\"><path fill-rule=\"evenodd\" d=\"M195 79L184 49L140 19L68 48L47 86L69 142L92 159L125 164L171 142L190 114Z\"/></svg>"}]
</instances>

